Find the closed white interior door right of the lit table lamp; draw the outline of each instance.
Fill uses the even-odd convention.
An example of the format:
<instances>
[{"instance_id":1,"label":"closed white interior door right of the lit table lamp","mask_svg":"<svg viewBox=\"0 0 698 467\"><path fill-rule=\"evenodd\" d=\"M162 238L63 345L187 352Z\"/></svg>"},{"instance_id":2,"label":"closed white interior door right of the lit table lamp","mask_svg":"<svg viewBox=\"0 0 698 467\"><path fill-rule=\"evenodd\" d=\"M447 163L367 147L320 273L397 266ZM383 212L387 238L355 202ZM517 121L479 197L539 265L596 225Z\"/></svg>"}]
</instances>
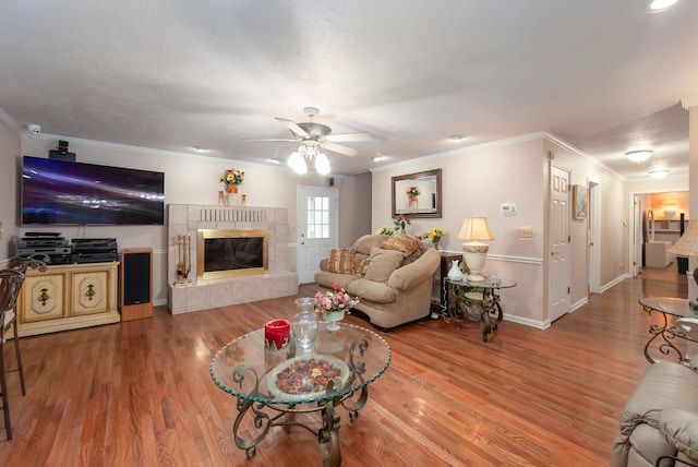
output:
<instances>
[{"instance_id":1,"label":"closed white interior door right of the lit table lamp","mask_svg":"<svg viewBox=\"0 0 698 467\"><path fill-rule=\"evenodd\" d=\"M550 321L569 312L569 172L551 166Z\"/></svg>"}]
</instances>

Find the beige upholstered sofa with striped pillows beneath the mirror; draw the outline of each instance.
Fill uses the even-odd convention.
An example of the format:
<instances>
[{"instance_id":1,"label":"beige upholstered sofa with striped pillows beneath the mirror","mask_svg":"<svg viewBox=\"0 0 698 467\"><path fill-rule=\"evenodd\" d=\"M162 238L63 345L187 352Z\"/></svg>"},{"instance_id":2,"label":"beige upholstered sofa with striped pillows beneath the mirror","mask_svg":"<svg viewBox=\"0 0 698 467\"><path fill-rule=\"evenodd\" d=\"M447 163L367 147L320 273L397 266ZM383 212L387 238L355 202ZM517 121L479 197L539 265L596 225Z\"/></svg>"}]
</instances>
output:
<instances>
[{"instance_id":1,"label":"beige upholstered sofa with striped pillows beneath the mirror","mask_svg":"<svg viewBox=\"0 0 698 467\"><path fill-rule=\"evenodd\" d=\"M351 248L332 250L320 263L315 283L359 297L356 310L388 330L430 313L434 273L441 255L431 244L407 235L366 235Z\"/></svg>"}]
</instances>

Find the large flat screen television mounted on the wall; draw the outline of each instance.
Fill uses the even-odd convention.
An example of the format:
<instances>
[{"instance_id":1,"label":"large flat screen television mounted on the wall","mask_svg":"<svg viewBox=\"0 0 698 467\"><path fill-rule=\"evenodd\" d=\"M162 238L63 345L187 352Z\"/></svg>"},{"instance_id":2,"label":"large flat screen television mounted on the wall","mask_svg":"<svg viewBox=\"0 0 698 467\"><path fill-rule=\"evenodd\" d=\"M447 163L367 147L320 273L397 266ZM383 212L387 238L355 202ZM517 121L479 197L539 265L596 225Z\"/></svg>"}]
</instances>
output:
<instances>
[{"instance_id":1,"label":"large flat screen television mounted on the wall","mask_svg":"<svg viewBox=\"0 0 698 467\"><path fill-rule=\"evenodd\" d=\"M24 156L22 224L165 223L165 173Z\"/></svg>"}]
</instances>

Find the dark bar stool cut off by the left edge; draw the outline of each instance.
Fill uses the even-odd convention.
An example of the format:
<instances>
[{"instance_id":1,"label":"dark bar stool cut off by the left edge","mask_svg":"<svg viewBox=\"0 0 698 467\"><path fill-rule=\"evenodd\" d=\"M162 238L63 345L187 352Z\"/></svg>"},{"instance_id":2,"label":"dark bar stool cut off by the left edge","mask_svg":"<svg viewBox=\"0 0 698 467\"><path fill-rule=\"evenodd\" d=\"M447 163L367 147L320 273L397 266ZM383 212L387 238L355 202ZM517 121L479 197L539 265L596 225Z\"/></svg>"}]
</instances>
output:
<instances>
[{"instance_id":1,"label":"dark bar stool cut off by the left edge","mask_svg":"<svg viewBox=\"0 0 698 467\"><path fill-rule=\"evenodd\" d=\"M8 441L12 440L12 428L10 426L10 398L8 394L7 373L19 372L22 395L26 394L24 386L24 371L22 369L22 356L20 355L20 339L17 338L17 320L14 307L24 283L24 274L15 270L0 271L0 392L2 392L2 411L4 414L4 428L8 433ZM8 369L4 360L4 343L8 340L5 334L12 326L14 332L14 354L17 367Z\"/></svg>"}]
</instances>

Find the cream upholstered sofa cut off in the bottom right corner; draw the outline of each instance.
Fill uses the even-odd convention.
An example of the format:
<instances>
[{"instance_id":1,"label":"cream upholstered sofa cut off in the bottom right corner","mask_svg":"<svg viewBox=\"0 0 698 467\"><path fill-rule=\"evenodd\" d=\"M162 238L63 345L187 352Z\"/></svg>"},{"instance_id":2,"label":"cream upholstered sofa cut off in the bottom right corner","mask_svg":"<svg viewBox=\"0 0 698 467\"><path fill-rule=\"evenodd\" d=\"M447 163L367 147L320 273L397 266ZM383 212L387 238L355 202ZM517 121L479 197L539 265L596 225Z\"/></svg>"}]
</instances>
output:
<instances>
[{"instance_id":1,"label":"cream upholstered sofa cut off in the bottom right corner","mask_svg":"<svg viewBox=\"0 0 698 467\"><path fill-rule=\"evenodd\" d=\"M693 368L669 361L650 364L621 416L611 466L698 465L697 388Z\"/></svg>"}]
</instances>

